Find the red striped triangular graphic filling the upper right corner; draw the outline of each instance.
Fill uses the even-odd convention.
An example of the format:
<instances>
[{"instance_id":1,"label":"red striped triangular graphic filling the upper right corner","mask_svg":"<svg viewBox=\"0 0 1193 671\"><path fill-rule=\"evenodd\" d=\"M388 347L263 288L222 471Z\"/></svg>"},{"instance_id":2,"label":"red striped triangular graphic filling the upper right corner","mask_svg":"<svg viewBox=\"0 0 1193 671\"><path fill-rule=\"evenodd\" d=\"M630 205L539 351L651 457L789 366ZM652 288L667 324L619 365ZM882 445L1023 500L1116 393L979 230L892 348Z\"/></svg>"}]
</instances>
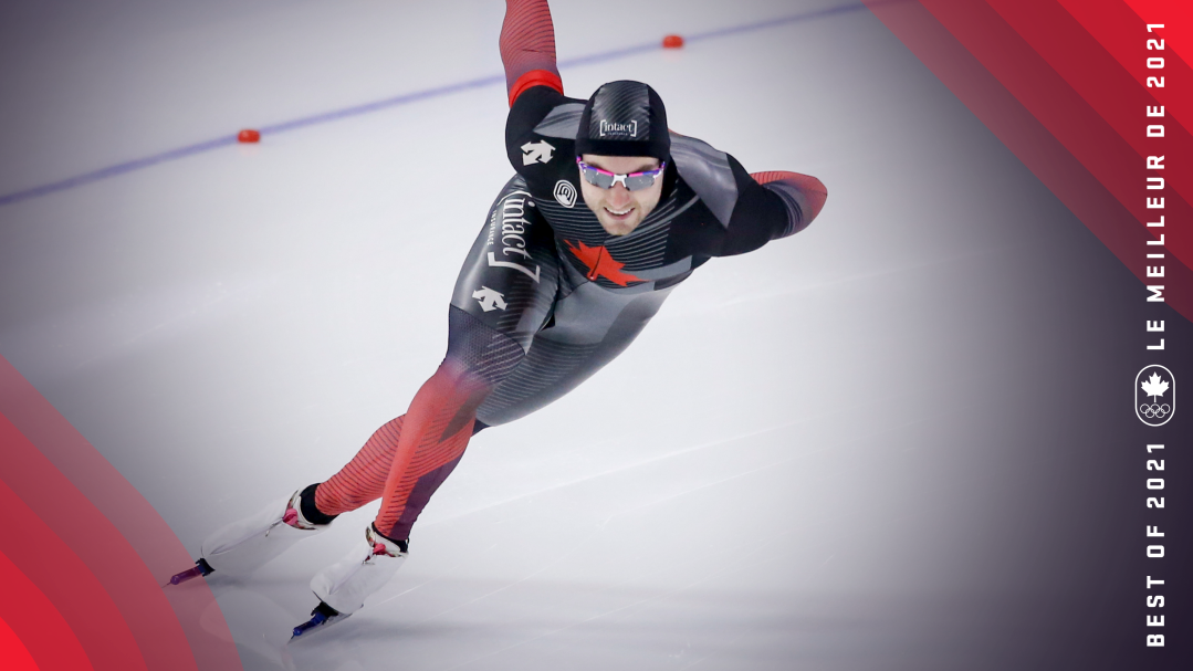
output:
<instances>
[{"instance_id":1,"label":"red striped triangular graphic filling the upper right corner","mask_svg":"<svg viewBox=\"0 0 1193 671\"><path fill-rule=\"evenodd\" d=\"M1174 26L1191 14L1172 1L920 0L866 5L1144 284L1164 285L1166 300L1193 319L1193 242L1183 234L1193 209L1188 105L1193 77ZM1144 20L1138 12L1155 15ZM1166 24L1168 25L1168 24ZM1166 42L1146 49L1146 38ZM1164 88L1148 88L1149 56L1164 58ZM1166 108L1149 122L1148 106ZM1145 136L1162 123L1162 139ZM1148 191L1148 155L1170 155L1166 188ZM1183 160L1182 160L1183 157ZM1163 197L1164 209L1145 207ZM1166 216L1166 226L1146 226ZM1158 243L1164 234L1163 246ZM1163 253L1161 261L1148 253ZM1163 279L1145 275L1163 265ZM1146 296L1141 287L1141 300Z\"/></svg>"}]
</instances>

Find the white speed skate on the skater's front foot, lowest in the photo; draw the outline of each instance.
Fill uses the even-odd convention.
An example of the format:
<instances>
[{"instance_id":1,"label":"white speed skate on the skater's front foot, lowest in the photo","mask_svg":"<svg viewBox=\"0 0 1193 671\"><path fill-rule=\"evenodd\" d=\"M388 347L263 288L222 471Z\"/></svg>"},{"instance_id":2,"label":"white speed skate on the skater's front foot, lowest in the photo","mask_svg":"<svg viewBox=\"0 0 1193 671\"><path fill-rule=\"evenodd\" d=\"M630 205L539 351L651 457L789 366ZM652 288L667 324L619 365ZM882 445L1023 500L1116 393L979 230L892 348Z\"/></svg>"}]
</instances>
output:
<instances>
[{"instance_id":1,"label":"white speed skate on the skater's front foot, lowest in the photo","mask_svg":"<svg viewBox=\"0 0 1193 671\"><path fill-rule=\"evenodd\" d=\"M394 541L365 529L365 543L358 545L344 559L320 571L310 580L319 597L311 619L295 627L293 638L344 620L365 604L365 598L385 586L409 551L408 541Z\"/></svg>"}]
</instances>

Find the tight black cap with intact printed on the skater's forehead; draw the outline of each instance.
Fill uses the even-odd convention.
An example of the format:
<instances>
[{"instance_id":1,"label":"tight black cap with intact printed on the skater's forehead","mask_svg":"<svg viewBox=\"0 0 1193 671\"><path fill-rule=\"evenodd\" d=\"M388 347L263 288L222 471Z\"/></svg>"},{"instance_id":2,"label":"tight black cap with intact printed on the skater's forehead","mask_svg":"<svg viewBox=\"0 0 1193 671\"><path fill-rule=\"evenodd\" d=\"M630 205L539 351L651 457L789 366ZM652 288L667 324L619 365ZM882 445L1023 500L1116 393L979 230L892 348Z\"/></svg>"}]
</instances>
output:
<instances>
[{"instance_id":1,"label":"tight black cap with intact printed on the skater's forehead","mask_svg":"<svg viewBox=\"0 0 1193 671\"><path fill-rule=\"evenodd\" d=\"M611 81L585 104L576 131L576 155L654 156L670 154L667 108L655 89L639 81Z\"/></svg>"}]
</instances>

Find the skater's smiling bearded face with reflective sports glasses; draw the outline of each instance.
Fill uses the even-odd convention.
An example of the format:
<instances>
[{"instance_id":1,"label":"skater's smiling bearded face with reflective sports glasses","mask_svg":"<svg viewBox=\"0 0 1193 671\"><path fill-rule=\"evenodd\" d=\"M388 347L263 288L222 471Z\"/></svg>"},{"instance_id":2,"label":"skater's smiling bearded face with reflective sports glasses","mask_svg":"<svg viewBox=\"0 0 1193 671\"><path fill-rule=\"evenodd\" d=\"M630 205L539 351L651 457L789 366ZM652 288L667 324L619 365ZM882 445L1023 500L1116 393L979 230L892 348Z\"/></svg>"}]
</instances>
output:
<instances>
[{"instance_id":1,"label":"skater's smiling bearded face with reflective sports glasses","mask_svg":"<svg viewBox=\"0 0 1193 671\"><path fill-rule=\"evenodd\" d=\"M659 169L659 159L650 156L601 156L600 154L585 154L581 161L594 168L600 168L619 175L630 173L644 173ZM601 188L580 179L580 193L585 197L585 205L596 215L596 220L605 228L608 235L628 235L638 228L642 219L659 205L659 198L663 193L663 180L660 175L655 184L638 191L630 191L618 181L611 188Z\"/></svg>"}]
</instances>

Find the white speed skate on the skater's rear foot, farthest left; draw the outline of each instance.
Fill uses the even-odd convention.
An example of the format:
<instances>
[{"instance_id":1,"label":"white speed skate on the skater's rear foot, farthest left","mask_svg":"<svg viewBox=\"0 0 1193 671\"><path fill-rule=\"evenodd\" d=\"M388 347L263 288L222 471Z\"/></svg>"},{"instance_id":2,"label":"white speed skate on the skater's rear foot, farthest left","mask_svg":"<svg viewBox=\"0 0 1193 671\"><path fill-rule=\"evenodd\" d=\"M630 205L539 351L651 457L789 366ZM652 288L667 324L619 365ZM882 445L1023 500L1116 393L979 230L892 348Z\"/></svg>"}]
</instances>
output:
<instances>
[{"instance_id":1,"label":"white speed skate on the skater's rear foot, farthest left","mask_svg":"<svg viewBox=\"0 0 1193 671\"><path fill-rule=\"evenodd\" d=\"M330 523L316 524L302 514L303 495L314 496L314 487L296 491L291 497L271 503L264 510L233 522L203 541L202 557L193 569L169 579L172 585L218 571L228 576L247 576L302 539L314 536Z\"/></svg>"}]
</instances>

